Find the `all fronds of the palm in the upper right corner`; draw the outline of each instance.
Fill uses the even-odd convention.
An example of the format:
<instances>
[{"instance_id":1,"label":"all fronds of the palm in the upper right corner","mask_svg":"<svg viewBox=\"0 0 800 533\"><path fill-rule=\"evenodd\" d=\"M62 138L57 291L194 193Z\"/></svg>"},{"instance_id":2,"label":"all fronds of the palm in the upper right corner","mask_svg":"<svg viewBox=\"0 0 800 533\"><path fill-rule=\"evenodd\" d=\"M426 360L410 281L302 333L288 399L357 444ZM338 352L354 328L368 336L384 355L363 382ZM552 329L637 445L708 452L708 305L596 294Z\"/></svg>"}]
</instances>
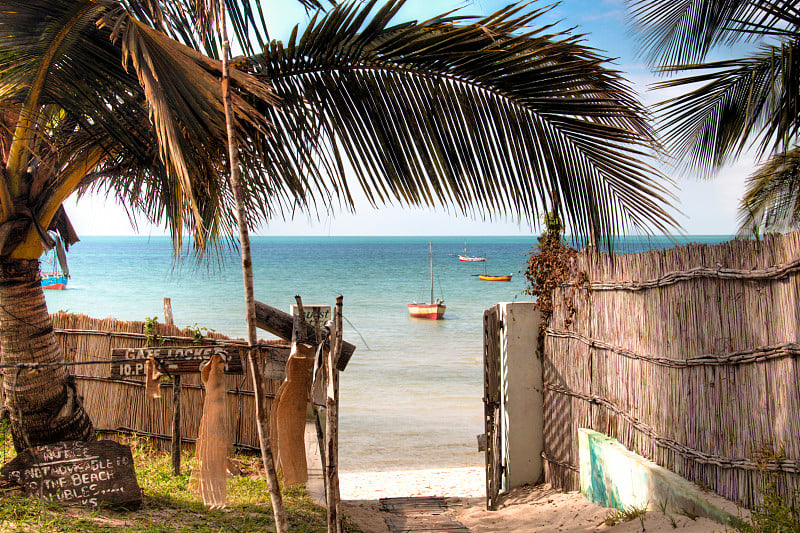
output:
<instances>
[{"instance_id":1,"label":"all fronds of the palm in the upper right corner","mask_svg":"<svg viewBox=\"0 0 800 533\"><path fill-rule=\"evenodd\" d=\"M668 148L706 173L753 150L761 166L740 204L740 232L800 226L800 6L790 0L633 0L634 27L662 73L687 92L660 104ZM745 55L709 61L720 48ZM688 157L687 157L688 156Z\"/></svg>"}]
</instances>

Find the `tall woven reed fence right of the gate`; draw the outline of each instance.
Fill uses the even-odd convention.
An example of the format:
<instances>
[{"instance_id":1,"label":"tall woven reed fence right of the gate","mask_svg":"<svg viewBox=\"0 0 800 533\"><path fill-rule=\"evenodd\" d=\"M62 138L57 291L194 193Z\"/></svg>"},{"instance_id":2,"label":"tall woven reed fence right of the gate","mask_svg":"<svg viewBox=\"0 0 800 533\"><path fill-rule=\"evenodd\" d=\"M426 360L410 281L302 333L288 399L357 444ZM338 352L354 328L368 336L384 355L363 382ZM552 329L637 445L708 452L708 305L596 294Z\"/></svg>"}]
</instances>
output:
<instances>
[{"instance_id":1,"label":"tall woven reed fence right of the gate","mask_svg":"<svg viewBox=\"0 0 800 533\"><path fill-rule=\"evenodd\" d=\"M579 488L577 428L748 507L766 462L800 489L800 233L616 256L554 294L545 337L545 476ZM572 321L568 320L574 309Z\"/></svg>"}]
</instances>

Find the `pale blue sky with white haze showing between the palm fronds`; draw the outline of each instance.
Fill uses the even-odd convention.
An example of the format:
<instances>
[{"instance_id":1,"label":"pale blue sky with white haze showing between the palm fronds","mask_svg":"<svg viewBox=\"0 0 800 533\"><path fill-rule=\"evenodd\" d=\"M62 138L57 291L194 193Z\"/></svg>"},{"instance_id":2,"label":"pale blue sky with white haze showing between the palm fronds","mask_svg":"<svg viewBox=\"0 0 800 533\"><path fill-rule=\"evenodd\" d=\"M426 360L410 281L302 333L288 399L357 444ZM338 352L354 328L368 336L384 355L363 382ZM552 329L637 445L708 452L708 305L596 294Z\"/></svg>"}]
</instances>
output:
<instances>
[{"instance_id":1,"label":"pale blue sky with white haze showing between the palm fronds","mask_svg":"<svg viewBox=\"0 0 800 533\"><path fill-rule=\"evenodd\" d=\"M498 0L407 0L397 22L425 19L452 9L461 8L464 14L486 15L506 6L509 2ZM297 2L272 0L263 2L272 24L272 37L285 38L298 22L307 20L305 11ZM549 5L539 2L538 5ZM559 23L559 28L577 26L574 33L587 34L588 45L616 58L614 68L626 73L633 87L645 103L655 103L670 95L654 93L648 86L657 80L644 62L637 57L636 43L626 25L623 0L563 0L546 15L548 22ZM753 161L743 158L723 169L712 180L699 180L697 176L679 173L664 167L662 170L676 182L680 213L678 221L688 234L730 234L736 231L736 209L742 195L744 179L752 172ZM334 212L321 214L319 219L301 215L295 220L273 220L265 227L253 228L255 235L529 235L539 233L536 228L520 225L510 219L474 220L442 210L383 207L373 209L366 202L358 202L355 214ZM124 210L113 201L85 197L79 202L72 198L66 202L67 212L79 235L132 235L135 234ZM102 220L101 225L97 224ZM164 230L144 223L139 234L162 235Z\"/></svg>"}]
</instances>

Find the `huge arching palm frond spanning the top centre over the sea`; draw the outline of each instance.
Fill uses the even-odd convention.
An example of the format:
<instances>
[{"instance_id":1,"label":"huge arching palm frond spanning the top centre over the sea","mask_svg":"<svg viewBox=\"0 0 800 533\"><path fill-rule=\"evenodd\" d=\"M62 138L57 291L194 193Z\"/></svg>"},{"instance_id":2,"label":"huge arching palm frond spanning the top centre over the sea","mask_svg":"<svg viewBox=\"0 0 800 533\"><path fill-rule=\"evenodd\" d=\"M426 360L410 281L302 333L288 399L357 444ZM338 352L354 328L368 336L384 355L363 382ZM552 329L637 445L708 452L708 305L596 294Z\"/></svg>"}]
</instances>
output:
<instances>
[{"instance_id":1,"label":"huge arching palm frond spanning the top centre over the sea","mask_svg":"<svg viewBox=\"0 0 800 533\"><path fill-rule=\"evenodd\" d=\"M393 26L401 5L339 5L254 58L284 101L264 110L270 145L320 162L297 185L349 205L347 159L376 204L530 221L555 199L583 236L674 227L667 181L646 162L656 143L644 109L578 37L531 30L544 10L518 4Z\"/></svg>"}]
</instances>

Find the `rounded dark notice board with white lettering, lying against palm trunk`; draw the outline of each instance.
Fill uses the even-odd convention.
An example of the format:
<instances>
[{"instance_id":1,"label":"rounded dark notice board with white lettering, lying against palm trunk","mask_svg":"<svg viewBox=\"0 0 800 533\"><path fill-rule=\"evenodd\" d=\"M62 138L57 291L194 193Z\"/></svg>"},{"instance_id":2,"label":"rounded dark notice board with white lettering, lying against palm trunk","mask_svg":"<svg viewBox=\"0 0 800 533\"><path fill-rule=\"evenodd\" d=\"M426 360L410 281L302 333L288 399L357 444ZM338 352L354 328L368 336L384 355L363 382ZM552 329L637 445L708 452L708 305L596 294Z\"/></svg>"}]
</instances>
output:
<instances>
[{"instance_id":1,"label":"rounded dark notice board with white lettering, lying against palm trunk","mask_svg":"<svg viewBox=\"0 0 800 533\"><path fill-rule=\"evenodd\" d=\"M0 477L53 502L126 509L142 503L131 449L111 440L29 448L6 463Z\"/></svg>"}]
</instances>

